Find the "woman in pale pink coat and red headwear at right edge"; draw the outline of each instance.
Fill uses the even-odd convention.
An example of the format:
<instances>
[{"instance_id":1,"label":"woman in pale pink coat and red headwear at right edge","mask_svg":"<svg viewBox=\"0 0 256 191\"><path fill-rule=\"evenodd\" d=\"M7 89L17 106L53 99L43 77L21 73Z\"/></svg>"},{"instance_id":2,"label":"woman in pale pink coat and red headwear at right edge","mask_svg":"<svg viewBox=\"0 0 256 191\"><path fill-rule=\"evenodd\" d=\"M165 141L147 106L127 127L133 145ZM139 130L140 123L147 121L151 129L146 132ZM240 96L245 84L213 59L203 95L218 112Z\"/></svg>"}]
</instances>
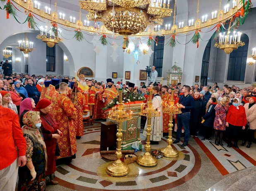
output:
<instances>
[{"instance_id":1,"label":"woman in pale pink coat and red headwear at right edge","mask_svg":"<svg viewBox=\"0 0 256 191\"><path fill-rule=\"evenodd\" d=\"M246 133L246 137L249 141L246 147L250 148L252 140L254 141L254 143L256 143L256 97L251 97L249 99L249 103L244 104L244 109L247 121L249 122L249 127L248 125L246 125L247 128L249 128ZM243 143L244 145L246 144L246 138L244 139Z\"/></svg>"}]
</instances>

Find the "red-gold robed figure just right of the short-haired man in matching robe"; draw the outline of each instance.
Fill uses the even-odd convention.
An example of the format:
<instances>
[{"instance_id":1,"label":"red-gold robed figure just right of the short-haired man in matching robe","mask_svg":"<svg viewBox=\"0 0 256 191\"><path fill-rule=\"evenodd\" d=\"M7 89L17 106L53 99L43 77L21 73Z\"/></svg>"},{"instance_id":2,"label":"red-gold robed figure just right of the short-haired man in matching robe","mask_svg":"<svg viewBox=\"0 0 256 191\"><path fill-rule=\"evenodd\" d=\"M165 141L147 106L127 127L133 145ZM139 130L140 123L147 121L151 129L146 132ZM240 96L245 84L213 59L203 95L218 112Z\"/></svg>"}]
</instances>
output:
<instances>
[{"instance_id":1,"label":"red-gold robed figure just right of the short-haired man in matching robe","mask_svg":"<svg viewBox=\"0 0 256 191\"><path fill-rule=\"evenodd\" d=\"M74 120L74 126L76 128L76 138L80 139L84 135L83 107L87 101L84 95L77 90L77 87L77 82L71 83L72 92L68 94L68 97L77 108L77 118Z\"/></svg>"}]
</instances>

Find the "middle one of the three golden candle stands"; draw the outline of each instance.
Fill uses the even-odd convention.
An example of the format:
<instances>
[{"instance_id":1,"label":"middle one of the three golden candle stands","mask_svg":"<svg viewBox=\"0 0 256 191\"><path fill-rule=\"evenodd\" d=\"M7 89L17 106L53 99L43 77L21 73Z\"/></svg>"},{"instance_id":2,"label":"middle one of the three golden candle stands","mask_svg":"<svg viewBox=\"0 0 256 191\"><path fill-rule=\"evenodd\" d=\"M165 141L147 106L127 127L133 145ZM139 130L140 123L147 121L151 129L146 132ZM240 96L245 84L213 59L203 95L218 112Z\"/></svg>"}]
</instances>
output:
<instances>
[{"instance_id":1,"label":"middle one of the three golden candle stands","mask_svg":"<svg viewBox=\"0 0 256 191\"><path fill-rule=\"evenodd\" d=\"M152 103L152 89L150 89L150 100L147 101L147 108L144 109L144 104L142 104L141 112L139 113L140 116L147 117L147 139L145 145L145 153L142 156L139 156L137 159L137 163L142 166L151 167L157 165L157 159L150 154L151 146L150 146L150 132L152 131L151 128L151 118L152 117L159 117L161 116L159 108L153 108Z\"/></svg>"}]
</instances>

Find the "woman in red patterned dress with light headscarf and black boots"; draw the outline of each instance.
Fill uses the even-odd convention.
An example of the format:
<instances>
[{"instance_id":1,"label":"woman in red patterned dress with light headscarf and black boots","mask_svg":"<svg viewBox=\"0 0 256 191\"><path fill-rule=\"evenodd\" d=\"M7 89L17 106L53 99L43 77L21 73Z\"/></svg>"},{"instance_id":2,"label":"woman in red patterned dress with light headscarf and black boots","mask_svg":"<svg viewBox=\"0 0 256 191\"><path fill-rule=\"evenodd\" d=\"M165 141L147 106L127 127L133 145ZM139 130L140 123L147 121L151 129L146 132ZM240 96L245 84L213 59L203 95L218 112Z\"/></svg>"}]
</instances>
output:
<instances>
[{"instance_id":1,"label":"woman in red patterned dress with light headscarf and black boots","mask_svg":"<svg viewBox=\"0 0 256 191\"><path fill-rule=\"evenodd\" d=\"M223 97L220 100L220 104L215 106L215 119L213 128L215 129L215 145L222 144L222 137L226 130L226 117L229 108L229 97Z\"/></svg>"}]
</instances>

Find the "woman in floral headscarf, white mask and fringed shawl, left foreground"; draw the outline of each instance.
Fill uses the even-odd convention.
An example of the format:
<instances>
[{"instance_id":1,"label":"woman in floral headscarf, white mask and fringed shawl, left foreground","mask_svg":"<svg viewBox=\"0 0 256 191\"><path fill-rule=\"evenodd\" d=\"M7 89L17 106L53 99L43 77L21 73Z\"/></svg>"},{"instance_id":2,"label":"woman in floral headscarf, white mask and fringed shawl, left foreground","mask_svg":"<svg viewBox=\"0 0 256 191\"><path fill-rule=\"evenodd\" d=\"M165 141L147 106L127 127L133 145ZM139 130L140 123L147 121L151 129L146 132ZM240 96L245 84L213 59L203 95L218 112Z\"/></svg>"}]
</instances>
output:
<instances>
[{"instance_id":1,"label":"woman in floral headscarf, white mask and fringed shawl, left foreground","mask_svg":"<svg viewBox=\"0 0 256 191\"><path fill-rule=\"evenodd\" d=\"M23 123L22 132L27 142L27 164L19 167L18 191L45 191L47 153L40 130L40 112L28 111L23 116Z\"/></svg>"}]
</instances>

